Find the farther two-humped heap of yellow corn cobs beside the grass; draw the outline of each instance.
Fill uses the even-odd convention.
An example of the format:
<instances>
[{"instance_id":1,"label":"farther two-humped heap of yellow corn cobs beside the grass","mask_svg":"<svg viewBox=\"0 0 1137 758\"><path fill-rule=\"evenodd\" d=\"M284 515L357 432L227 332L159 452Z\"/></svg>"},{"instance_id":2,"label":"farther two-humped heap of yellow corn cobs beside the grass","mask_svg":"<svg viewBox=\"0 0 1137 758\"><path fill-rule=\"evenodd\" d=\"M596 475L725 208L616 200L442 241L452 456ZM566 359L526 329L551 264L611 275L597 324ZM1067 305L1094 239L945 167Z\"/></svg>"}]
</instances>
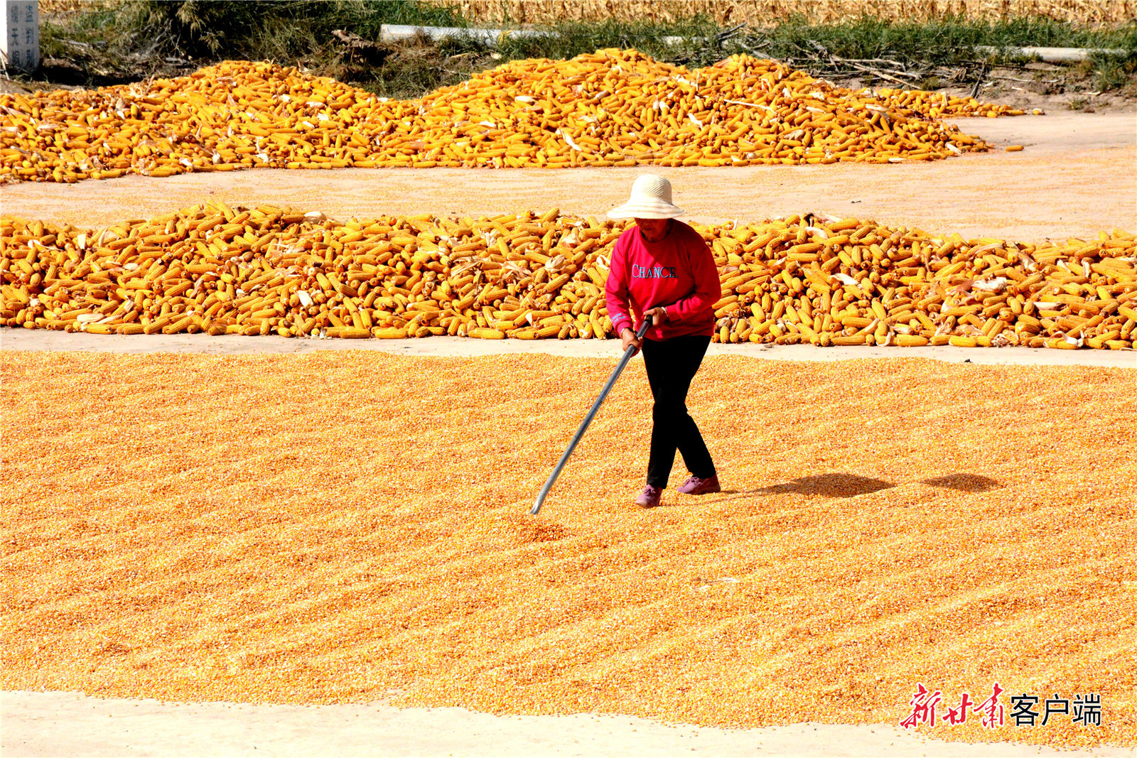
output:
<instances>
[{"instance_id":1,"label":"farther two-humped heap of yellow corn cobs beside the grass","mask_svg":"<svg viewBox=\"0 0 1137 758\"><path fill-rule=\"evenodd\" d=\"M748 56L694 72L634 50L512 61L421 101L226 61L97 91L0 94L0 182L256 166L895 163L986 149L936 118L1021 113L933 92L854 92Z\"/></svg>"}]
</instances>

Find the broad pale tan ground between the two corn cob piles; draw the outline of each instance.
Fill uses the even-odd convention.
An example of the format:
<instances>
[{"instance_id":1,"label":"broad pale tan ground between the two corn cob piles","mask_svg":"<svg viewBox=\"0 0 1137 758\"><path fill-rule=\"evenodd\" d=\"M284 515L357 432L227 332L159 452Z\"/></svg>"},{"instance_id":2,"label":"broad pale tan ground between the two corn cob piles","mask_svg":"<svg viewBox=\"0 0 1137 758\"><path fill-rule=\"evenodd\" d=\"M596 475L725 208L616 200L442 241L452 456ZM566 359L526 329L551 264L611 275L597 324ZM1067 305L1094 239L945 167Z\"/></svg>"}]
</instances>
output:
<instances>
[{"instance_id":1,"label":"broad pale tan ground between the two corn cob piles","mask_svg":"<svg viewBox=\"0 0 1137 758\"><path fill-rule=\"evenodd\" d=\"M697 222L821 211L1020 242L1137 228L1137 114L956 123L996 149L910 165L650 170L672 180L677 205ZM1026 149L1005 152L1009 144ZM632 178L646 170L251 169L5 185L0 200L3 213L78 226L149 217L210 198L319 209L342 218L426 211L476 216L554 207L599 216L624 202Z\"/></svg>"}]
</instances>

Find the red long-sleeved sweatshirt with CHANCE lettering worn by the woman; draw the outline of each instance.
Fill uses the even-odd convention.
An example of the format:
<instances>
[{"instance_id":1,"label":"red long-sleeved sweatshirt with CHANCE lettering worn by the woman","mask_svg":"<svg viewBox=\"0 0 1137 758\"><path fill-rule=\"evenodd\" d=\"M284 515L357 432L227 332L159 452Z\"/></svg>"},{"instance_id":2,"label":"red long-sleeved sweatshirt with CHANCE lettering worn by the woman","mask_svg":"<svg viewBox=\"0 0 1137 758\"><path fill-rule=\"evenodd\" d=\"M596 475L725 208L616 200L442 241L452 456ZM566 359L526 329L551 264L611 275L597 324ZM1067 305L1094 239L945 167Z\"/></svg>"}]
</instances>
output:
<instances>
[{"instance_id":1,"label":"red long-sleeved sweatshirt with CHANCE lettering worn by the woman","mask_svg":"<svg viewBox=\"0 0 1137 758\"><path fill-rule=\"evenodd\" d=\"M714 310L721 293L719 269L711 248L698 232L672 219L671 232L658 242L648 242L638 226L620 235L612 251L612 267L605 288L608 318L616 334L634 330L645 310L663 306L667 320L653 326L649 340L670 340L687 334L714 334Z\"/></svg>"}]
</instances>

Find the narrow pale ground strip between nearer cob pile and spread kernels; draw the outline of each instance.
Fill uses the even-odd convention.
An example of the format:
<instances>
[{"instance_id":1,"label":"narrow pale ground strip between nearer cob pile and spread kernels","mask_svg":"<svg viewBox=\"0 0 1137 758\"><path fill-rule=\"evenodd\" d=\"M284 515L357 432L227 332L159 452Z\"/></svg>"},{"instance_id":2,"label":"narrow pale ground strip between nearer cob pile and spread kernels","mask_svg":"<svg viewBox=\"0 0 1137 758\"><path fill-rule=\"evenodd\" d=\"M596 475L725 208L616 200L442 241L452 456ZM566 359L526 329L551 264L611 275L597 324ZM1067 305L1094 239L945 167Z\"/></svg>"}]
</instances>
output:
<instances>
[{"instance_id":1,"label":"narrow pale ground strip between nearer cob pile and spread kernels","mask_svg":"<svg viewBox=\"0 0 1137 758\"><path fill-rule=\"evenodd\" d=\"M424 340L314 340L230 334L67 334L47 330L0 327L0 350L77 352L182 352L249 355L316 350L377 350L401 356L473 357L542 353L565 358L614 358L615 340L472 340L432 336ZM1035 350L1031 348L815 348L812 344L712 344L708 356L746 356L762 360L853 360L860 358L931 358L979 366L1103 366L1137 368L1132 350Z\"/></svg>"}]
</instances>

